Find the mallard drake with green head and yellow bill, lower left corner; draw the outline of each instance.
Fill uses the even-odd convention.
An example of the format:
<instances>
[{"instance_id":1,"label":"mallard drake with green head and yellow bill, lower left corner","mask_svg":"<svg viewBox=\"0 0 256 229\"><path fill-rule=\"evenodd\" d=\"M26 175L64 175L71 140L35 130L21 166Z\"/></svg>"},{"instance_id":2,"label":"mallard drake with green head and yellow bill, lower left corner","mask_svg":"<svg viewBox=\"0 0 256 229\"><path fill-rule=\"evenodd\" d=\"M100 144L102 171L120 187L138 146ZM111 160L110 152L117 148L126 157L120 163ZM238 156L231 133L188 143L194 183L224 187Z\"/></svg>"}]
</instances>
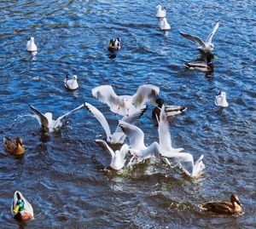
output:
<instances>
[{"instance_id":1,"label":"mallard drake with green head and yellow bill, lower left corner","mask_svg":"<svg viewBox=\"0 0 256 229\"><path fill-rule=\"evenodd\" d=\"M13 218L17 221L31 220L34 217L32 205L28 203L19 191L16 191L14 194L10 211Z\"/></svg>"}]
</instances>

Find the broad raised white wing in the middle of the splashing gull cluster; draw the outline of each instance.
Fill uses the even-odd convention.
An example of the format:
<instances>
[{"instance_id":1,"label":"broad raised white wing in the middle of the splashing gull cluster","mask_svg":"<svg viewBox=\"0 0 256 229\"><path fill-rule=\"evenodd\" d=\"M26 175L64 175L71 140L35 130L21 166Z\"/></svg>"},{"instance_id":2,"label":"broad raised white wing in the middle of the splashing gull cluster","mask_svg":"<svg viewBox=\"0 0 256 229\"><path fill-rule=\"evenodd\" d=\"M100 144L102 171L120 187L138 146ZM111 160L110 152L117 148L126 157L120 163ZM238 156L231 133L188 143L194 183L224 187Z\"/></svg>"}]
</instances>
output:
<instances>
[{"instance_id":1,"label":"broad raised white wing in the middle of the splashing gull cluster","mask_svg":"<svg viewBox=\"0 0 256 229\"><path fill-rule=\"evenodd\" d=\"M119 120L119 126L124 131L125 135L128 136L131 148L136 150L145 149L144 144L144 133L142 129L139 129L137 126L125 123L122 120Z\"/></svg>"}]
</instances>

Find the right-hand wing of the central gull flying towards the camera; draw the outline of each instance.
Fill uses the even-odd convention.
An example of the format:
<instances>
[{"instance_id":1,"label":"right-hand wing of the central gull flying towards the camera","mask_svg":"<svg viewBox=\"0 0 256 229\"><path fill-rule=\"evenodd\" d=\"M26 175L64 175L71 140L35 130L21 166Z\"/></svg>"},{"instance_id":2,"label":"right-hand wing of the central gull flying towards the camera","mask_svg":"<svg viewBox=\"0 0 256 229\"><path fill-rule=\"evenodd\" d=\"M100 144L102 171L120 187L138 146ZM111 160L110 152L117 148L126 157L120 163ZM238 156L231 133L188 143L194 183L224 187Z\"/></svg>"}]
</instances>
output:
<instances>
[{"instance_id":1,"label":"right-hand wing of the central gull flying towards the camera","mask_svg":"<svg viewBox=\"0 0 256 229\"><path fill-rule=\"evenodd\" d=\"M152 84L143 84L138 89L136 94L132 95L132 103L135 107L143 106L149 100L156 99L160 89Z\"/></svg>"}]
</instances>

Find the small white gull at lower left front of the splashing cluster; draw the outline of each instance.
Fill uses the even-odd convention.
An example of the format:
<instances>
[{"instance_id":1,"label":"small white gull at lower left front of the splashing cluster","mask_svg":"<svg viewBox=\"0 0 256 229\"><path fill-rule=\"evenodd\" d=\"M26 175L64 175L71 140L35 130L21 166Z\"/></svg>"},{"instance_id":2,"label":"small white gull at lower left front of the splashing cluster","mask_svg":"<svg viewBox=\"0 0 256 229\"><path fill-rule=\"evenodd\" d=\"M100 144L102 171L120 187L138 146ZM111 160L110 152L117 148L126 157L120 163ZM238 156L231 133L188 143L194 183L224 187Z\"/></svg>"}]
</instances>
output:
<instances>
[{"instance_id":1,"label":"small white gull at lower left front of the splashing cluster","mask_svg":"<svg viewBox=\"0 0 256 229\"><path fill-rule=\"evenodd\" d=\"M113 152L113 149L108 146L108 143L105 140L95 140L96 143L100 143L103 144L103 146L105 146L106 149L108 149L108 152L111 155L111 163L110 163L110 167L114 170L119 170L122 169L125 166L125 155L127 154L127 152L129 152L129 146L127 146L126 144L123 145L120 150L117 150L115 152Z\"/></svg>"}]
</instances>

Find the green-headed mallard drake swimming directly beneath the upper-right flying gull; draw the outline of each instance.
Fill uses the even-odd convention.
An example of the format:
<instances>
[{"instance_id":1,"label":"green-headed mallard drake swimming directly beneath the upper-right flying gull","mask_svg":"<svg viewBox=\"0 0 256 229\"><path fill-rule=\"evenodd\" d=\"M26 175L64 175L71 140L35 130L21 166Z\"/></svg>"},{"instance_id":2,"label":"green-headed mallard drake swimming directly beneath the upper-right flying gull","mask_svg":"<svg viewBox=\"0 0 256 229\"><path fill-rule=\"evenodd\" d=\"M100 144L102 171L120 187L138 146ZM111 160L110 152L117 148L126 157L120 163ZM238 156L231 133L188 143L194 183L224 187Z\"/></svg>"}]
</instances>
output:
<instances>
[{"instance_id":1,"label":"green-headed mallard drake swimming directly beneath the upper-right flying gull","mask_svg":"<svg viewBox=\"0 0 256 229\"><path fill-rule=\"evenodd\" d=\"M205 61L194 61L185 63L184 66L191 70L199 70L201 72L212 72L213 71L213 64L212 59L218 60L218 57L213 54L207 54L207 63Z\"/></svg>"}]
</instances>

